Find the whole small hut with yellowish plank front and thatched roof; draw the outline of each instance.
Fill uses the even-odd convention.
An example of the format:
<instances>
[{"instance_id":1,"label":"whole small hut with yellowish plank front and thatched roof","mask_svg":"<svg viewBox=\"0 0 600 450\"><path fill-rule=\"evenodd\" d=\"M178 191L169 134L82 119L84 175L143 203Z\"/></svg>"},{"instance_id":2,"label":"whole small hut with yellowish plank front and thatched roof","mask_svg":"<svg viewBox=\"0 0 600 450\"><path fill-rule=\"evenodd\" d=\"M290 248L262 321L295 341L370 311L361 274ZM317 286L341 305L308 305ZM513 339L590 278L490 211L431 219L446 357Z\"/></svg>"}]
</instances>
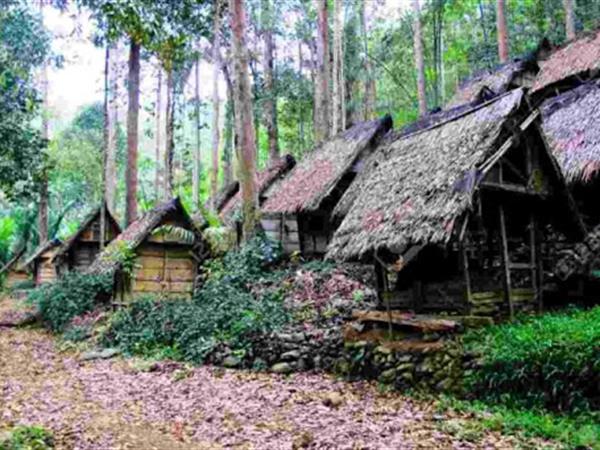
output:
<instances>
[{"instance_id":1,"label":"whole small hut with yellowish plank front and thatched roof","mask_svg":"<svg viewBox=\"0 0 600 450\"><path fill-rule=\"evenodd\" d=\"M205 252L200 231L175 198L127 227L98 255L89 273L113 275L115 303L148 294L189 298Z\"/></svg>"}]
</instances>

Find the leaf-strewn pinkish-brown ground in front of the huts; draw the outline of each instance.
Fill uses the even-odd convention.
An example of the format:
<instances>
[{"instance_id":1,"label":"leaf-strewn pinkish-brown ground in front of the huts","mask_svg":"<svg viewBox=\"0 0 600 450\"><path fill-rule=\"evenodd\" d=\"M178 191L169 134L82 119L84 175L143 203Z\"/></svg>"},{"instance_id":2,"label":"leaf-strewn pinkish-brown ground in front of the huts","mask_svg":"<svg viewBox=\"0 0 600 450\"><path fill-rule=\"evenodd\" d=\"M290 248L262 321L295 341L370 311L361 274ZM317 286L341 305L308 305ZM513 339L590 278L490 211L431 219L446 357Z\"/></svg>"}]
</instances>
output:
<instances>
[{"instance_id":1,"label":"leaf-strewn pinkish-brown ground in front of the huts","mask_svg":"<svg viewBox=\"0 0 600 450\"><path fill-rule=\"evenodd\" d=\"M65 449L554 448L323 374L80 356L39 328L0 327L0 433L40 425Z\"/></svg>"}]
</instances>

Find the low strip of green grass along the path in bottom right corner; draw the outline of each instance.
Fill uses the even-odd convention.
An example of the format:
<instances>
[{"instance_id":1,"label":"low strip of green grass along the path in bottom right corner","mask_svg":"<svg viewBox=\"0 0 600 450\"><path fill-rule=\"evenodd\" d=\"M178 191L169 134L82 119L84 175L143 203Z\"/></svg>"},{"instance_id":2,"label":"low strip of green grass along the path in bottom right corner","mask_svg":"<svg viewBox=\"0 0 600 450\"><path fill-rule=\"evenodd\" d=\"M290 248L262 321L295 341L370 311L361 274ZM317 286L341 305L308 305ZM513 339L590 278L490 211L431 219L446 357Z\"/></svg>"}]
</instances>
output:
<instances>
[{"instance_id":1,"label":"low strip of green grass along the path in bottom right corner","mask_svg":"<svg viewBox=\"0 0 600 450\"><path fill-rule=\"evenodd\" d=\"M600 448L600 423L594 415L556 415L445 396L440 398L438 406L441 411L474 414L480 426L491 431L551 439L568 448Z\"/></svg>"}]
</instances>

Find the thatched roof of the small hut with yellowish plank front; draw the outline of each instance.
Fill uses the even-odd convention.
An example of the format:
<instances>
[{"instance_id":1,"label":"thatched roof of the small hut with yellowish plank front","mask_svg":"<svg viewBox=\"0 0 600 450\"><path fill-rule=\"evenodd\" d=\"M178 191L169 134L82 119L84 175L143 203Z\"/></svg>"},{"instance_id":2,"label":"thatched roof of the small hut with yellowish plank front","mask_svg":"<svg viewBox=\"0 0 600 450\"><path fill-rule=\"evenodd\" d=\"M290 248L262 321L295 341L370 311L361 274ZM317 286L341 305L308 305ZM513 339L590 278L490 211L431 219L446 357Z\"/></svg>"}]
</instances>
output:
<instances>
[{"instance_id":1,"label":"thatched roof of the small hut with yellowish plank front","mask_svg":"<svg viewBox=\"0 0 600 450\"><path fill-rule=\"evenodd\" d=\"M115 254L119 253L119 249L123 244L127 245L129 249L135 249L150 236L152 231L171 220L181 222L196 235L197 239L202 239L200 231L194 225L179 197L177 197L159 204L129 225L98 255L89 267L88 272L114 272L120 266Z\"/></svg>"}]
</instances>

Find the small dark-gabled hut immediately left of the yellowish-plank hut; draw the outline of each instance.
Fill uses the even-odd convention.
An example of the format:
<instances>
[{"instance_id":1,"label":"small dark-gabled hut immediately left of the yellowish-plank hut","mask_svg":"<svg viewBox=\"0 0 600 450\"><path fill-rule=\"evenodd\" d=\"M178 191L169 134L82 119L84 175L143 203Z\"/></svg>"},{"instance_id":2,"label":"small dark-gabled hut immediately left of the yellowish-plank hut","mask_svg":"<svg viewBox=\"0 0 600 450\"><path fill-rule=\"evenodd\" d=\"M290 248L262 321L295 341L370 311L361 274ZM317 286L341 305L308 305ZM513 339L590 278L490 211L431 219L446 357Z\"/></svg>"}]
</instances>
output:
<instances>
[{"instance_id":1,"label":"small dark-gabled hut immediately left of the yellowish-plank hut","mask_svg":"<svg viewBox=\"0 0 600 450\"><path fill-rule=\"evenodd\" d=\"M91 211L83 220L77 231L56 250L52 262L59 268L59 273L67 271L84 272L100 253L100 206ZM104 245L106 246L119 233L121 228L104 207Z\"/></svg>"}]
</instances>

